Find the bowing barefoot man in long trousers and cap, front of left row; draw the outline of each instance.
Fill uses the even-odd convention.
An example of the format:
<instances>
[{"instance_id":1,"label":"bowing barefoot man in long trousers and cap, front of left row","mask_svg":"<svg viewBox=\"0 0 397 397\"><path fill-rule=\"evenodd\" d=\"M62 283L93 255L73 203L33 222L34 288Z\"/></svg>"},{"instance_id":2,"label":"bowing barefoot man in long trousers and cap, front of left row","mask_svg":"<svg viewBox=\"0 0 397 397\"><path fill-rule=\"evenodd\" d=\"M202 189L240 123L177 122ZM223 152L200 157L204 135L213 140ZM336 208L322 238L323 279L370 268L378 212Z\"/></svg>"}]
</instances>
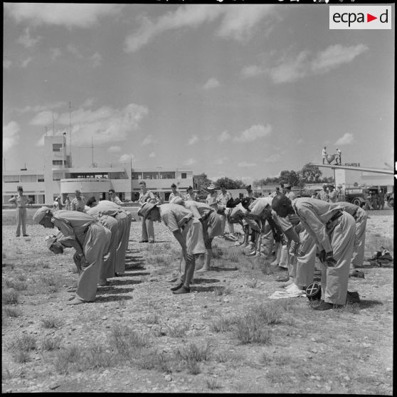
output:
<instances>
[{"instance_id":1,"label":"bowing barefoot man in long trousers and cap, front of left row","mask_svg":"<svg viewBox=\"0 0 397 397\"><path fill-rule=\"evenodd\" d=\"M60 210L53 213L51 208L41 207L33 215L33 222L45 228L55 226L75 248L76 253L85 257L85 265L79 275L78 287L73 300L66 305L93 302L104 256L109 248L111 234L95 218L79 211Z\"/></svg>"}]
</instances>

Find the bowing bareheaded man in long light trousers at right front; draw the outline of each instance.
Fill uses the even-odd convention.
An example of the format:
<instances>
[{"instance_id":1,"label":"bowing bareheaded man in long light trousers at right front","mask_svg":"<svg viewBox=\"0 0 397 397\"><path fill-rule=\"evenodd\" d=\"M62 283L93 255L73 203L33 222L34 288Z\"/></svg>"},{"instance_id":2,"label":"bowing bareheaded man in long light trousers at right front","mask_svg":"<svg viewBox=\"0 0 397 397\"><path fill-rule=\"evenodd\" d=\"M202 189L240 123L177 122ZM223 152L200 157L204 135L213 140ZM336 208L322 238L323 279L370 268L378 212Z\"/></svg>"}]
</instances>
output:
<instances>
[{"instance_id":1,"label":"bowing bareheaded man in long light trousers at right front","mask_svg":"<svg viewBox=\"0 0 397 397\"><path fill-rule=\"evenodd\" d=\"M272 208L283 218L295 213L316 241L322 262L322 302L314 309L345 305L356 231L354 218L338 204L313 198L295 198L291 203L280 195L273 198Z\"/></svg>"}]
</instances>

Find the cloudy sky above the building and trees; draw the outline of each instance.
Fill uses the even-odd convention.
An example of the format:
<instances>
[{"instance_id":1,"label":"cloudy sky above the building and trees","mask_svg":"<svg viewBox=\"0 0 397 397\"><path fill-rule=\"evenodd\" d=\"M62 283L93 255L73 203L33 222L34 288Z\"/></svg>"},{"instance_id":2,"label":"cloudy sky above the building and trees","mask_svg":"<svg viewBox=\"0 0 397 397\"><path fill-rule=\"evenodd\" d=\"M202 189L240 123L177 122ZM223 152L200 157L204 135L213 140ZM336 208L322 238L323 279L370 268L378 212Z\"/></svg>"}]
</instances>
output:
<instances>
[{"instance_id":1,"label":"cloudy sky above the building and trees","mask_svg":"<svg viewBox=\"0 0 397 397\"><path fill-rule=\"evenodd\" d=\"M66 132L73 166L93 144L98 166L247 184L324 146L385 168L392 7L391 30L329 30L327 4L4 3L3 166L42 170L43 136Z\"/></svg>"}]
</instances>

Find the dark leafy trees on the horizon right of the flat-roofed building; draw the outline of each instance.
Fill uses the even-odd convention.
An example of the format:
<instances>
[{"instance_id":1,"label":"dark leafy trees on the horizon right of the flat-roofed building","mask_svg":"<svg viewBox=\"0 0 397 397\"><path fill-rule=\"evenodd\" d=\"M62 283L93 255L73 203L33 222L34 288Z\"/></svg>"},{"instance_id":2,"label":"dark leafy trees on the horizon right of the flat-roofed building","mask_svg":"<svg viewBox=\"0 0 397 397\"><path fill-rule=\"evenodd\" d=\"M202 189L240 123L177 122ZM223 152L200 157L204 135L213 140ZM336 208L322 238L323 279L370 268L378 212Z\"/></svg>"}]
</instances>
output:
<instances>
[{"instance_id":1,"label":"dark leafy trees on the horizon right of the flat-roofed building","mask_svg":"<svg viewBox=\"0 0 397 397\"><path fill-rule=\"evenodd\" d=\"M206 191L208 186L213 183L216 189L219 189L221 184L224 184L226 189L245 189L247 186L240 179L231 179L227 176L219 178L216 181L208 179L205 173L201 173L193 176L194 189L200 193ZM273 176L263 179L255 179L253 186L265 186L265 185L284 185L290 184L291 186L297 186L302 188L305 184L327 184L334 182L332 176L322 177L322 171L318 166L314 164L305 164L300 171L284 170L280 172L280 176Z\"/></svg>"}]
</instances>

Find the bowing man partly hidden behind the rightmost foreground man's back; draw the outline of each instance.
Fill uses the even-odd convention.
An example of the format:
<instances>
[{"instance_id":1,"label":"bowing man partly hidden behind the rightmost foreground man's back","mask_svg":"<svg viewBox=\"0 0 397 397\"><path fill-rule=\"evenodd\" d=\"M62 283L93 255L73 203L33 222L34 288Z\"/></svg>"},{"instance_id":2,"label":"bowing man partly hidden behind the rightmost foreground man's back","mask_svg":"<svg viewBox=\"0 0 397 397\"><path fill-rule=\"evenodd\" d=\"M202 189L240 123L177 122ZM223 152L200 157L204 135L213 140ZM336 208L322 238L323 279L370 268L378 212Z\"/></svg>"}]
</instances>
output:
<instances>
[{"instance_id":1,"label":"bowing man partly hidden behind the rightmost foreground man's back","mask_svg":"<svg viewBox=\"0 0 397 397\"><path fill-rule=\"evenodd\" d=\"M354 238L353 255L351 255L351 268L359 268L364 262L366 219L368 216L363 208L347 201L339 201L337 205L341 206L356 221L356 236Z\"/></svg>"}]
</instances>

